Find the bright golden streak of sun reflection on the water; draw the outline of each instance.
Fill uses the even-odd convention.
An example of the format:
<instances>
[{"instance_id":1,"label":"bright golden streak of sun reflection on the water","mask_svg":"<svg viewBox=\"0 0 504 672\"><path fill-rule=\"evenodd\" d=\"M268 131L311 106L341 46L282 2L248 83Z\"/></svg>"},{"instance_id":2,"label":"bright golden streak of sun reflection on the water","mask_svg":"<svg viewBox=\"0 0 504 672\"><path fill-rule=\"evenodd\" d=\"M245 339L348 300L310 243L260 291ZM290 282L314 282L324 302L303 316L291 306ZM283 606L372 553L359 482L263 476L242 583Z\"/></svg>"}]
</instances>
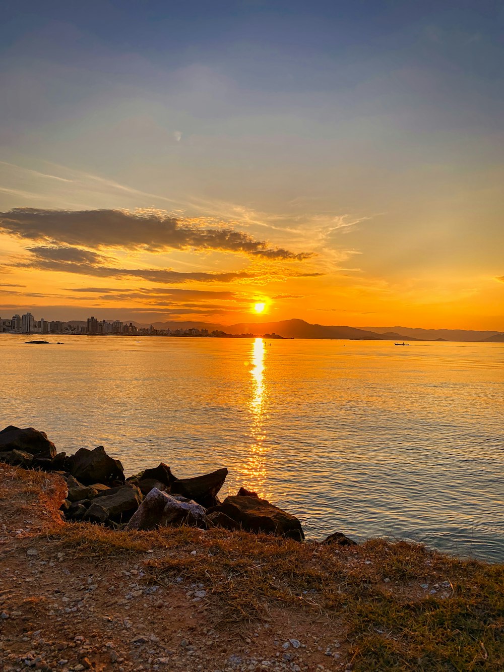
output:
<instances>
[{"instance_id":1,"label":"bright golden streak of sun reflection on the water","mask_svg":"<svg viewBox=\"0 0 504 672\"><path fill-rule=\"evenodd\" d=\"M252 366L251 374L251 396L249 401L249 411L251 413L251 427L250 427L250 457L247 466L245 466L245 476L247 478L247 485L261 496L264 496L264 484L266 480L266 466L265 454L267 448L265 447L265 402L266 402L266 386L264 381L264 358L265 347L264 341L261 338L256 338L251 348Z\"/></svg>"}]
</instances>

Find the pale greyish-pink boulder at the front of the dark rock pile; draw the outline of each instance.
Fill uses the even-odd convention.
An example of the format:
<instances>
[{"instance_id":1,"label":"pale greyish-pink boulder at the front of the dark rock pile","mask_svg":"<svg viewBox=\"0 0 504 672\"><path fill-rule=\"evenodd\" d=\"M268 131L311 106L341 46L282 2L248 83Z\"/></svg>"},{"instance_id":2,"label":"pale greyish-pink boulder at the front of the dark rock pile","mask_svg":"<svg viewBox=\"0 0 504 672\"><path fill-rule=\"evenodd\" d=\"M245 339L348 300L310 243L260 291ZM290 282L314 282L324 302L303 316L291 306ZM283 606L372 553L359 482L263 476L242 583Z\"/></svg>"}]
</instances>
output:
<instances>
[{"instance_id":1,"label":"pale greyish-pink boulder at the front of the dark rock pile","mask_svg":"<svg viewBox=\"0 0 504 672\"><path fill-rule=\"evenodd\" d=\"M128 530L155 530L170 525L206 528L205 514L205 509L195 501L153 488L126 527Z\"/></svg>"}]
</instances>

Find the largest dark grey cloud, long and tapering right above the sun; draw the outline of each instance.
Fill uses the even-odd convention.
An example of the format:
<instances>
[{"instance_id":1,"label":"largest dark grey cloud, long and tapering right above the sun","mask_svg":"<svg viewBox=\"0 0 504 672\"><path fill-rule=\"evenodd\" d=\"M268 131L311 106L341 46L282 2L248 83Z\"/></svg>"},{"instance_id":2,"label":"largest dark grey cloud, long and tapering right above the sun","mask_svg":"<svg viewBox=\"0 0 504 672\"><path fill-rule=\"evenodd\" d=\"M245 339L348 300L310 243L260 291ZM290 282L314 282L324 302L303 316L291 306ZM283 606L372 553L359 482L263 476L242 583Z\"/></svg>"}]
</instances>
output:
<instances>
[{"instance_id":1,"label":"largest dark grey cloud, long and tapering right above the sun","mask_svg":"<svg viewBox=\"0 0 504 672\"><path fill-rule=\"evenodd\" d=\"M151 209L129 212L13 208L0 212L0 232L50 245L59 243L91 249L219 250L284 261L312 257L312 253L269 247L265 241L232 228L204 228L195 220L182 220Z\"/></svg>"}]
</instances>

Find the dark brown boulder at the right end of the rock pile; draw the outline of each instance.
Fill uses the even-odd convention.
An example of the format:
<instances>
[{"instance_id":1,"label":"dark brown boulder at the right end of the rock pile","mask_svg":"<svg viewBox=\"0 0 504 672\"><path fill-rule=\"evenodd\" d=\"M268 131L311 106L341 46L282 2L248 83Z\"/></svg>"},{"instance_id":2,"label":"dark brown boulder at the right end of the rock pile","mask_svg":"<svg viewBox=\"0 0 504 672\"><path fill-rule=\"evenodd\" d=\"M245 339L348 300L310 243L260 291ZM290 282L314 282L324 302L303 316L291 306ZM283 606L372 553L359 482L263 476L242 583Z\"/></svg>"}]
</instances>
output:
<instances>
[{"instance_id":1,"label":"dark brown boulder at the right end of the rock pile","mask_svg":"<svg viewBox=\"0 0 504 672\"><path fill-rule=\"evenodd\" d=\"M222 511L240 523L247 532L265 532L298 541L304 540L301 523L294 515L260 497L226 497L222 504L212 509L212 513L216 511Z\"/></svg>"}]
</instances>

